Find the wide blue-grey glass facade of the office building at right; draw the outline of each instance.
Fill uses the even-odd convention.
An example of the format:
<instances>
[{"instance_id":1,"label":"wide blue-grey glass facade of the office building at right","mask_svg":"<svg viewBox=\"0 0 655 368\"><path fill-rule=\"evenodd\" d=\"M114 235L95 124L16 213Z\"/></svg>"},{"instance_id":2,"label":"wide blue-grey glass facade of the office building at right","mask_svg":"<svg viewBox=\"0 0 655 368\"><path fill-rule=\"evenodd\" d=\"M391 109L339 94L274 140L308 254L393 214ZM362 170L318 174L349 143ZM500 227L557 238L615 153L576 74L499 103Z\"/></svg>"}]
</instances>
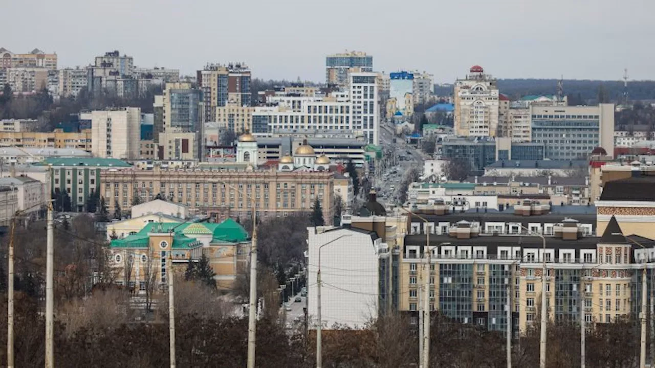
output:
<instances>
[{"instance_id":1,"label":"wide blue-grey glass facade of the office building at right","mask_svg":"<svg viewBox=\"0 0 655 368\"><path fill-rule=\"evenodd\" d=\"M532 141L553 160L586 158L599 146L599 115L533 115Z\"/></svg>"}]
</instances>

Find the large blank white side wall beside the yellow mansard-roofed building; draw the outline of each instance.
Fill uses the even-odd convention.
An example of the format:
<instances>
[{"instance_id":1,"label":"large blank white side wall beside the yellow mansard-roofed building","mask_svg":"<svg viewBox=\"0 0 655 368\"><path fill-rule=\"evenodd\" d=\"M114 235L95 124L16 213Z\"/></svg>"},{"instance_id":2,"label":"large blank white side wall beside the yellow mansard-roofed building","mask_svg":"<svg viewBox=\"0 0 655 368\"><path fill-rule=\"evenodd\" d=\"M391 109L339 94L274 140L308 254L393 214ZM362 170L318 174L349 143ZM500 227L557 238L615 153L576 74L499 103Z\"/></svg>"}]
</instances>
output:
<instances>
[{"instance_id":1,"label":"large blank white side wall beside the yellow mansard-roofed building","mask_svg":"<svg viewBox=\"0 0 655 368\"><path fill-rule=\"evenodd\" d=\"M309 293L308 313L316 328L318 302L316 271L320 246L339 236L349 235L327 244L321 253L321 306L324 327L335 323L363 327L377 318L379 298L379 261L371 236L348 229L331 230L322 234L309 231Z\"/></svg>"}]
</instances>

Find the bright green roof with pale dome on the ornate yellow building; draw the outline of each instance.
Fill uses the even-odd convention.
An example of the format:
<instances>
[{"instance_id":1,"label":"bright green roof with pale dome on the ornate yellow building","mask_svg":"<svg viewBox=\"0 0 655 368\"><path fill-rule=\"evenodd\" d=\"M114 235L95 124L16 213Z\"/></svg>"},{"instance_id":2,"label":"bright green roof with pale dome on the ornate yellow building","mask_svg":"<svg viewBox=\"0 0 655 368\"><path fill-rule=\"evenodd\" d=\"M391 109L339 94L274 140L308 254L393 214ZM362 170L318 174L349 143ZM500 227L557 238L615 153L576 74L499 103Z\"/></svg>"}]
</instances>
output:
<instances>
[{"instance_id":1,"label":"bright green roof with pale dome on the ornate yellow building","mask_svg":"<svg viewBox=\"0 0 655 368\"><path fill-rule=\"evenodd\" d=\"M174 231L172 248L190 248L199 245L198 235L211 235L212 243L245 242L248 232L233 219L221 223L148 223L136 234L111 241L111 248L147 248L151 232Z\"/></svg>"}]
</instances>

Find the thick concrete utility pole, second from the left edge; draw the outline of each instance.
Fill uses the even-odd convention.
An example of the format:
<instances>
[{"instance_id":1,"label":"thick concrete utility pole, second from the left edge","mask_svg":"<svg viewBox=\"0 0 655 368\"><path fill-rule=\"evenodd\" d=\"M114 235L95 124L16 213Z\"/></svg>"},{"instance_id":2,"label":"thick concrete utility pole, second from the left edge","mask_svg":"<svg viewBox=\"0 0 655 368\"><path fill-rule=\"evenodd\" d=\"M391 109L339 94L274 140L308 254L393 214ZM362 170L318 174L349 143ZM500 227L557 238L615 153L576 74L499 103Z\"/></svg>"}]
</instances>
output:
<instances>
[{"instance_id":1,"label":"thick concrete utility pole, second from the left edge","mask_svg":"<svg viewBox=\"0 0 655 368\"><path fill-rule=\"evenodd\" d=\"M54 368L54 226L52 202L48 203L45 282L45 367Z\"/></svg>"}]
</instances>

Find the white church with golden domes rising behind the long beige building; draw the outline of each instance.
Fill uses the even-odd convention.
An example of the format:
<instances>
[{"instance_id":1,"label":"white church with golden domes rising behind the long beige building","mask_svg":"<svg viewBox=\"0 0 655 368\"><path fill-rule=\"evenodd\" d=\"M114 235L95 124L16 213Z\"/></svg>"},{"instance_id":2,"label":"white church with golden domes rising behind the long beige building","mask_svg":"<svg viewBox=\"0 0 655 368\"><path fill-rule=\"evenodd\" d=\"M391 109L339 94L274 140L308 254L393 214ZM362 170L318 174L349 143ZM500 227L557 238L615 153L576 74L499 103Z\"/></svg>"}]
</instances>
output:
<instances>
[{"instance_id":1,"label":"white church with golden domes rising behind the long beige building","mask_svg":"<svg viewBox=\"0 0 655 368\"><path fill-rule=\"evenodd\" d=\"M257 164L262 164L259 161L257 151L257 139L255 136L246 132L238 138L236 144L236 161L248 163L257 168ZM286 152L278 162L278 170L282 172L295 172L295 171L327 171L332 161L326 155L316 155L314 148L307 143L307 139L303 139L303 143L299 145L293 155Z\"/></svg>"}]
</instances>

